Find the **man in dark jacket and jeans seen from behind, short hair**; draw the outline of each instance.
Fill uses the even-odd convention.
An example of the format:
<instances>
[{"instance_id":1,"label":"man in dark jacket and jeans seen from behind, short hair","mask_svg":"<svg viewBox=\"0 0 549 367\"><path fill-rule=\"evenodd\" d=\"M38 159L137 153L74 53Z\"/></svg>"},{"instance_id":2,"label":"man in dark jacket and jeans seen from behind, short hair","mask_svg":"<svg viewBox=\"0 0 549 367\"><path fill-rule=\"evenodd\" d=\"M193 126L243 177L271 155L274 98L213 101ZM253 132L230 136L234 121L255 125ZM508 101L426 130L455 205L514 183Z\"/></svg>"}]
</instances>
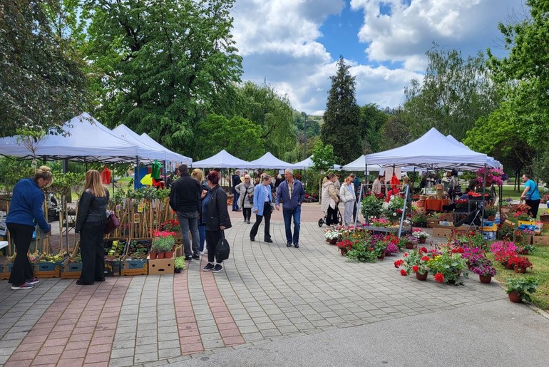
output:
<instances>
[{"instance_id":1,"label":"man in dark jacket and jeans seen from behind, short hair","mask_svg":"<svg viewBox=\"0 0 549 367\"><path fill-rule=\"evenodd\" d=\"M170 191L170 207L178 214L185 259L200 259L200 234L198 234L198 210L200 210L200 182L189 175L189 168L183 164L179 166L179 178L173 182ZM193 248L191 249L189 230L193 234Z\"/></svg>"}]
</instances>

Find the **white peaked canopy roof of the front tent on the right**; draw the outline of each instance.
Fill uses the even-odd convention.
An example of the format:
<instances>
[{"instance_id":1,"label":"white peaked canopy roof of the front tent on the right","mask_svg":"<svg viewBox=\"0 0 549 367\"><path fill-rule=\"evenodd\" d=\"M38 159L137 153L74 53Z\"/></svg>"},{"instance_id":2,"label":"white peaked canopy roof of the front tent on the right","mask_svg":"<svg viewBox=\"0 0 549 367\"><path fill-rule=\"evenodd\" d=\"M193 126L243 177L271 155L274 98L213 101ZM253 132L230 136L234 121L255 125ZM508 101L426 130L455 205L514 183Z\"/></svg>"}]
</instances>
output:
<instances>
[{"instance_id":1,"label":"white peaked canopy roof of the front tent on the right","mask_svg":"<svg viewBox=\"0 0 549 367\"><path fill-rule=\"evenodd\" d=\"M488 156L450 143L436 128L399 148L364 156L365 164L384 167L473 170L488 164ZM367 167L367 166L366 166Z\"/></svg>"}]
</instances>

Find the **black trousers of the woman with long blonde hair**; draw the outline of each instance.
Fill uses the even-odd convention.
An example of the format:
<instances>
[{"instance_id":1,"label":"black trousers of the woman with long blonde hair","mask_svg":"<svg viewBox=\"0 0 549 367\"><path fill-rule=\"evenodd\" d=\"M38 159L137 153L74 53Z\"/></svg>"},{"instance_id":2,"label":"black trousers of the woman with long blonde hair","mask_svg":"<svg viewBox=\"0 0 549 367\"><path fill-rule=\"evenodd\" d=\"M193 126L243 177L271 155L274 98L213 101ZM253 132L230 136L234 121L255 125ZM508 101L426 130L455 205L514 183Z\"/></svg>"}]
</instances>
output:
<instances>
[{"instance_id":1,"label":"black trousers of the woman with long blonde hair","mask_svg":"<svg viewBox=\"0 0 549 367\"><path fill-rule=\"evenodd\" d=\"M86 284L103 279L105 276L105 254L103 234L106 224L80 231L80 254L82 255L82 274L80 280Z\"/></svg>"}]
</instances>

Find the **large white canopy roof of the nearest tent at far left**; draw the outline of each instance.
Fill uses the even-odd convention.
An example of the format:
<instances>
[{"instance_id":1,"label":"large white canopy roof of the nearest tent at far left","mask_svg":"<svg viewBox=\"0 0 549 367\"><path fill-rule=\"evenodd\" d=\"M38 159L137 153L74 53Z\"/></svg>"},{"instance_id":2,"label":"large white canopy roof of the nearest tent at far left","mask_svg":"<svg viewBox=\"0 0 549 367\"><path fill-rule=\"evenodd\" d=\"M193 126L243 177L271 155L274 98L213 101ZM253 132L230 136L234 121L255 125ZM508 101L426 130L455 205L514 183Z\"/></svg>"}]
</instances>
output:
<instances>
[{"instance_id":1,"label":"large white canopy roof of the nearest tent at far left","mask_svg":"<svg viewBox=\"0 0 549 367\"><path fill-rule=\"evenodd\" d=\"M78 162L135 162L154 160L157 150L135 145L116 136L88 113L63 125L66 135L46 135L38 142L24 143L24 137L0 138L0 154L43 160Z\"/></svg>"}]
</instances>

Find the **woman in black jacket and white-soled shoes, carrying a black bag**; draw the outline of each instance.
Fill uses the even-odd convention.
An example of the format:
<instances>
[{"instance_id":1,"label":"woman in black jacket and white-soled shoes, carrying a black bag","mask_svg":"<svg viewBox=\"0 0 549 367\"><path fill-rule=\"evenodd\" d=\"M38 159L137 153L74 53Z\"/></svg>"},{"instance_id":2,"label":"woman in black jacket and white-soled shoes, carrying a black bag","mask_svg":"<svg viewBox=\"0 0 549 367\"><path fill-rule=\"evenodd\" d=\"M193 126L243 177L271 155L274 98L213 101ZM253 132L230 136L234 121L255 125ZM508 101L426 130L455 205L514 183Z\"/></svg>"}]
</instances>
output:
<instances>
[{"instance_id":1,"label":"woman in black jacket and white-soled shoes, carrying a black bag","mask_svg":"<svg viewBox=\"0 0 549 367\"><path fill-rule=\"evenodd\" d=\"M202 269L204 272L221 272L223 267L220 263L215 264L215 252L217 242L221 238L221 231L231 227L229 211L227 210L227 194L218 185L221 175L217 171L210 171L207 174L207 185L210 192L202 200L202 217L206 218L206 246L207 264Z\"/></svg>"}]
</instances>

